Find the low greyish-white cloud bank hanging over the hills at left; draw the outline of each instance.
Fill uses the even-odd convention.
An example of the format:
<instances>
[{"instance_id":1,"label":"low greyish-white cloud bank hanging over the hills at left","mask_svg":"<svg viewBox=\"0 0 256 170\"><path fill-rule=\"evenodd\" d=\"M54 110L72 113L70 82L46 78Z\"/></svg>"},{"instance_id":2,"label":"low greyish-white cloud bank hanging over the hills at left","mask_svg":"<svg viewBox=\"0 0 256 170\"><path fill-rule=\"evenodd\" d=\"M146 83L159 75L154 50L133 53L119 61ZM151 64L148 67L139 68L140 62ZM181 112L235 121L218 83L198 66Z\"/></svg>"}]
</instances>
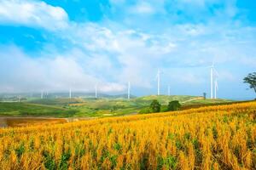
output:
<instances>
[{"instance_id":1,"label":"low greyish-white cloud bank hanging over the hills at left","mask_svg":"<svg viewBox=\"0 0 256 170\"><path fill-rule=\"evenodd\" d=\"M96 84L106 93L125 89L122 84L90 75L76 59L75 53L53 54L54 58L32 58L15 46L1 47L0 51L1 92L63 91L69 88L90 92Z\"/></svg>"}]
</instances>

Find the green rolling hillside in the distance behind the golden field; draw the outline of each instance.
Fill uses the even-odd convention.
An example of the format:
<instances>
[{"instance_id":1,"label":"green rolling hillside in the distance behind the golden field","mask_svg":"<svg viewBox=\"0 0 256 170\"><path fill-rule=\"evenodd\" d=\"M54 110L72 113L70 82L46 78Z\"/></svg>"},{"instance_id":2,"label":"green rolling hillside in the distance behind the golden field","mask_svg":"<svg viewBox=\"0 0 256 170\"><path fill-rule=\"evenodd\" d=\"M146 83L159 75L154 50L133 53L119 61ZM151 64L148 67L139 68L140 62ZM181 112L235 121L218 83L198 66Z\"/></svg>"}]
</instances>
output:
<instances>
[{"instance_id":1,"label":"green rolling hillside in the distance behind the golden field","mask_svg":"<svg viewBox=\"0 0 256 170\"><path fill-rule=\"evenodd\" d=\"M103 117L136 114L148 108L157 99L163 108L172 100L184 105L226 103L224 99L202 99L197 96L144 96L133 99L119 98L49 98L29 99L28 102L0 102L0 116L54 116L54 117Z\"/></svg>"}]
</instances>

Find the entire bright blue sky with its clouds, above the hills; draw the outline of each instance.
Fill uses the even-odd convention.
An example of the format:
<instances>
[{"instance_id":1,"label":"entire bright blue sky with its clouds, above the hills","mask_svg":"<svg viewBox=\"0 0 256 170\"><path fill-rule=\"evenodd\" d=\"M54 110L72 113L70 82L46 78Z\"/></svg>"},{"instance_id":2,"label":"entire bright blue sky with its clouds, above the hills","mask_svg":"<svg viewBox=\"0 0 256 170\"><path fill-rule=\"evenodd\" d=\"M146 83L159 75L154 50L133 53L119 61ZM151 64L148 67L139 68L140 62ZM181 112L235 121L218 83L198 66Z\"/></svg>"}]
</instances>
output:
<instances>
[{"instance_id":1,"label":"entire bright blue sky with its clouds, above the hills","mask_svg":"<svg viewBox=\"0 0 256 170\"><path fill-rule=\"evenodd\" d=\"M253 99L252 0L0 0L0 92L210 93Z\"/></svg>"}]
</instances>

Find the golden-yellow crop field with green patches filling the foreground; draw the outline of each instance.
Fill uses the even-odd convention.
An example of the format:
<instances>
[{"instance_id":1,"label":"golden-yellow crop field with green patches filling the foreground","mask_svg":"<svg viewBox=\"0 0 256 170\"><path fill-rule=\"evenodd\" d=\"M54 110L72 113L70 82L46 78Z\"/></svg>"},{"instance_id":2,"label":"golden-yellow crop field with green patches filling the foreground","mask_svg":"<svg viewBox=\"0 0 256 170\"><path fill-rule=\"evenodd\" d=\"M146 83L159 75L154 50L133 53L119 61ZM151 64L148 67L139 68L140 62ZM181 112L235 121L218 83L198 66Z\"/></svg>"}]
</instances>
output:
<instances>
[{"instance_id":1,"label":"golden-yellow crop field with green patches filling the foreground","mask_svg":"<svg viewBox=\"0 0 256 170\"><path fill-rule=\"evenodd\" d=\"M253 169L256 103L0 131L1 169Z\"/></svg>"}]
</instances>

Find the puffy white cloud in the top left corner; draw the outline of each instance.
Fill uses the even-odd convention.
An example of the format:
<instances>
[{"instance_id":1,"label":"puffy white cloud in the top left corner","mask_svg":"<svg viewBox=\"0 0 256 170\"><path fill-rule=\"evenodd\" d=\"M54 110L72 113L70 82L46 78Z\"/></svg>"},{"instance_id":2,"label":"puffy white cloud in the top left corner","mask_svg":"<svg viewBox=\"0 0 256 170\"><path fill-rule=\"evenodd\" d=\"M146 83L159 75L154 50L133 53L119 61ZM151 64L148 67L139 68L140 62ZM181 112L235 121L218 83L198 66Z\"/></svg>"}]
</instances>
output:
<instances>
[{"instance_id":1,"label":"puffy white cloud in the top left corner","mask_svg":"<svg viewBox=\"0 0 256 170\"><path fill-rule=\"evenodd\" d=\"M1 0L0 24L43 27L48 30L66 28L68 16L63 8L32 0Z\"/></svg>"}]
</instances>

